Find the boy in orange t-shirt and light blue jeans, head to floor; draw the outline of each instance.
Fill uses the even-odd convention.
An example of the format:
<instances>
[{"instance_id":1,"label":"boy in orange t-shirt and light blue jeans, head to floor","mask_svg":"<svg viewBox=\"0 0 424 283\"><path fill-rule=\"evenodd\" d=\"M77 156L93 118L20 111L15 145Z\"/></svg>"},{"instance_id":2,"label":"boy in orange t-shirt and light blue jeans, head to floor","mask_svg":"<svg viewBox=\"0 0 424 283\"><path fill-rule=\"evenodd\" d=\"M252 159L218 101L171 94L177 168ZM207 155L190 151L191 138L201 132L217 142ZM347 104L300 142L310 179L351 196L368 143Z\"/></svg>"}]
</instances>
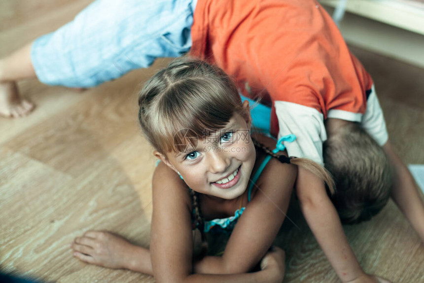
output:
<instances>
[{"instance_id":1,"label":"boy in orange t-shirt and light blue jeans, head to floor","mask_svg":"<svg viewBox=\"0 0 424 283\"><path fill-rule=\"evenodd\" d=\"M189 50L233 76L246 96L272 105L270 133L297 137L286 144L290 155L325 161L342 192L333 202L344 222L369 219L390 196L424 242L419 188L391 146L373 80L316 0L94 1L71 23L0 60L0 115L34 108L20 98L16 80L36 76L46 84L92 87ZM347 123L358 127L341 133ZM346 160L349 168L339 170ZM319 181L313 174L301 179ZM329 249L328 239L342 228L325 190L300 196L314 235ZM313 225L328 215L337 231L332 237Z\"/></svg>"}]
</instances>

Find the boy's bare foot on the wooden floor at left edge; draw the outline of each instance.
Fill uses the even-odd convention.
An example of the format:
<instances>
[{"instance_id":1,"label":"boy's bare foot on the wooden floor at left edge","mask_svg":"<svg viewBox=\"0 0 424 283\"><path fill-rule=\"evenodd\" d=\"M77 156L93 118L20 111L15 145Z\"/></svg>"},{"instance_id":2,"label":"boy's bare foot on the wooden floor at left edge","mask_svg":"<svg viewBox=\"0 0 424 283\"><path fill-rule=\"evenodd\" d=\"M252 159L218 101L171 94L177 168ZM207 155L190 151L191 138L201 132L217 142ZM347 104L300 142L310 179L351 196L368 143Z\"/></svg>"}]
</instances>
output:
<instances>
[{"instance_id":1,"label":"boy's bare foot on the wooden floor at left edge","mask_svg":"<svg viewBox=\"0 0 424 283\"><path fill-rule=\"evenodd\" d=\"M18 118L28 115L34 104L21 99L15 82L0 82L0 116Z\"/></svg>"}]
</instances>

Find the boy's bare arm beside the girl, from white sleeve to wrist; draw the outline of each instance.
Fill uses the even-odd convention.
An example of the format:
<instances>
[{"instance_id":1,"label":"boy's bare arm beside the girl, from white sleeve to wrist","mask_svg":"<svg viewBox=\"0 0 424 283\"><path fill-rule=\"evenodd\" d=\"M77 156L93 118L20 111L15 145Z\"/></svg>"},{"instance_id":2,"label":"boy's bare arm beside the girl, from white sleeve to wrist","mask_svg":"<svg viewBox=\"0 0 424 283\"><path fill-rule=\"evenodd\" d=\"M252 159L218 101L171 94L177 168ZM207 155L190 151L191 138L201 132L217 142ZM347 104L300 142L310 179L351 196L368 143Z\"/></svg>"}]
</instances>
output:
<instances>
[{"instance_id":1,"label":"boy's bare arm beside the girl, from white sleeve to wrist","mask_svg":"<svg viewBox=\"0 0 424 283\"><path fill-rule=\"evenodd\" d=\"M323 181L313 173L299 168L296 191L306 221L338 277L343 282L367 277L349 246L339 215L327 196Z\"/></svg>"}]
</instances>

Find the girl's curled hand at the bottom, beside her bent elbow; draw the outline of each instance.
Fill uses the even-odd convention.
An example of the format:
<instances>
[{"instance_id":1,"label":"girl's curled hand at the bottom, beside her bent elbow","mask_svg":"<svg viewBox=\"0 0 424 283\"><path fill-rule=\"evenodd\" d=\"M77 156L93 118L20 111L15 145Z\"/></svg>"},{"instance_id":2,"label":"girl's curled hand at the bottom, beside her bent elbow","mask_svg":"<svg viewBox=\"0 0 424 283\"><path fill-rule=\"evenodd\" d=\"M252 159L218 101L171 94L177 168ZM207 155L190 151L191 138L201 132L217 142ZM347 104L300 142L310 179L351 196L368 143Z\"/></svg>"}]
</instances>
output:
<instances>
[{"instance_id":1,"label":"girl's curled hand at the bottom, beside her bent elbow","mask_svg":"<svg viewBox=\"0 0 424 283\"><path fill-rule=\"evenodd\" d=\"M283 249L272 246L260 262L261 270L268 270L272 282L282 282L285 272L285 252Z\"/></svg>"}]
</instances>

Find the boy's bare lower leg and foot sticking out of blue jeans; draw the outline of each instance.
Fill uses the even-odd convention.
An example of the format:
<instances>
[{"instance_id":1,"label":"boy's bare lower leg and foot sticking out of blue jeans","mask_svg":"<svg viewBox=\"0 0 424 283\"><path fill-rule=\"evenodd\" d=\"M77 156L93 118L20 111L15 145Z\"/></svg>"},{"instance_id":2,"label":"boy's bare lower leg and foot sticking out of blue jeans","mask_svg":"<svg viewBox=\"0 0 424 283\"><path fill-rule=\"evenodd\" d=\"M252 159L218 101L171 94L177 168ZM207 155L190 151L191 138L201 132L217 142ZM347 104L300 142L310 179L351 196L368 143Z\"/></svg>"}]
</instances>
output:
<instances>
[{"instance_id":1,"label":"boy's bare lower leg and foot sticking out of blue jeans","mask_svg":"<svg viewBox=\"0 0 424 283\"><path fill-rule=\"evenodd\" d=\"M31 102L21 99L16 87L17 80L36 77L31 63L31 45L0 59L0 116L21 117L34 108Z\"/></svg>"}]
</instances>

